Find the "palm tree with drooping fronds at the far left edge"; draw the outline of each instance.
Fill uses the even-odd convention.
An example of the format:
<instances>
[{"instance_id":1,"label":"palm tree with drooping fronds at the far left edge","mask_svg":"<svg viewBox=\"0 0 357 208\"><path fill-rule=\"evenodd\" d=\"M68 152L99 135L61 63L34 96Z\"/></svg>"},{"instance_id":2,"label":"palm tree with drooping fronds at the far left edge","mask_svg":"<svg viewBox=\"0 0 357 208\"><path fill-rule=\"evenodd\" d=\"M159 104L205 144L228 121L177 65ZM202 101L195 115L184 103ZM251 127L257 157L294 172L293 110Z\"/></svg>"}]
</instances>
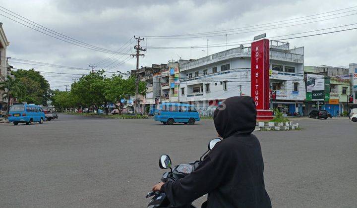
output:
<instances>
[{"instance_id":1,"label":"palm tree with drooping fronds at the far left edge","mask_svg":"<svg viewBox=\"0 0 357 208\"><path fill-rule=\"evenodd\" d=\"M9 112L10 98L16 98L25 92L25 87L20 84L19 80L7 75L4 81L0 82L0 90L4 91L2 98L7 98L7 110Z\"/></svg>"}]
</instances>

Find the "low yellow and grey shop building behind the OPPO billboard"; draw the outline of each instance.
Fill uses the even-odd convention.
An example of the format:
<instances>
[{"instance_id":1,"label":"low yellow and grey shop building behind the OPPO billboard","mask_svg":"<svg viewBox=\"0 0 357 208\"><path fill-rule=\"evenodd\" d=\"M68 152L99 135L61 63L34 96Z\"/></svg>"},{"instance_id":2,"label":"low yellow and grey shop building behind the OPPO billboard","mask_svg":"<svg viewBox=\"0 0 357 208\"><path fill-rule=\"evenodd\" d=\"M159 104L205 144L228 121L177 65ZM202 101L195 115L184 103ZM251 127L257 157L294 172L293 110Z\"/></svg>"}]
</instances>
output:
<instances>
[{"instance_id":1,"label":"low yellow and grey shop building behind the OPPO billboard","mask_svg":"<svg viewBox=\"0 0 357 208\"><path fill-rule=\"evenodd\" d=\"M325 109L333 116L348 110L348 98L350 95L350 73L348 68L332 66L305 66L305 74L318 74L322 76L325 84L324 102L320 109ZM316 109L316 102L306 96L306 112Z\"/></svg>"}]
</instances>

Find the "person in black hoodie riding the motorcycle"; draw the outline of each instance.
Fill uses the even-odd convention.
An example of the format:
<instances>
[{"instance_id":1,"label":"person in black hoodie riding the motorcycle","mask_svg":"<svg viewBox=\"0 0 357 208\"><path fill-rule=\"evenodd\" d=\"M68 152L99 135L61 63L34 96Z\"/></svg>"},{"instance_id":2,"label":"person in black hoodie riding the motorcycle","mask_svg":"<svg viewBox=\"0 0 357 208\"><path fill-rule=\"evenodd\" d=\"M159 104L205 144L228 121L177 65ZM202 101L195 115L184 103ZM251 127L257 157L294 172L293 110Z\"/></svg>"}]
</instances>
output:
<instances>
[{"instance_id":1,"label":"person in black hoodie riding the motorcycle","mask_svg":"<svg viewBox=\"0 0 357 208\"><path fill-rule=\"evenodd\" d=\"M214 112L222 142L205 156L191 174L153 190L166 193L170 203L182 206L208 193L207 208L271 208L264 187L264 163L258 139L251 134L256 109L251 97L226 99Z\"/></svg>"}]
</instances>

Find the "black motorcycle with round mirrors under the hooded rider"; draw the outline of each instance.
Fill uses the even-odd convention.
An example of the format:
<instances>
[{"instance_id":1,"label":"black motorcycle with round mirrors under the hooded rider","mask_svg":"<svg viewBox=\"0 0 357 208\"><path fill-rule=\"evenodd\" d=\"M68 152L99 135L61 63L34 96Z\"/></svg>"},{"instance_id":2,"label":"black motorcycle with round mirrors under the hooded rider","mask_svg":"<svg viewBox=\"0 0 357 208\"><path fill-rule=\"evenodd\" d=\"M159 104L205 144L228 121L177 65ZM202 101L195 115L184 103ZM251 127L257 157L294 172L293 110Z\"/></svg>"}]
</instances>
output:
<instances>
[{"instance_id":1,"label":"black motorcycle with round mirrors under the hooded rider","mask_svg":"<svg viewBox=\"0 0 357 208\"><path fill-rule=\"evenodd\" d=\"M208 143L208 150L200 157L199 160L196 160L194 162L190 162L187 164L179 164L174 166L172 168L172 161L170 156L168 155L162 155L160 156L159 159L159 167L161 169L170 169L170 171L165 172L163 176L161 177L162 182L167 182L167 181L177 181L180 178L184 178L186 175L190 174L192 171L194 171L198 165L201 163L203 156L205 156L209 151L211 151L214 146L221 142L222 140L220 138L215 138L212 139ZM149 204L148 208L195 208L192 203L184 206L173 206L169 199L166 197L165 193L162 193L160 191L151 191L149 192L145 198L150 198L153 197Z\"/></svg>"}]
</instances>

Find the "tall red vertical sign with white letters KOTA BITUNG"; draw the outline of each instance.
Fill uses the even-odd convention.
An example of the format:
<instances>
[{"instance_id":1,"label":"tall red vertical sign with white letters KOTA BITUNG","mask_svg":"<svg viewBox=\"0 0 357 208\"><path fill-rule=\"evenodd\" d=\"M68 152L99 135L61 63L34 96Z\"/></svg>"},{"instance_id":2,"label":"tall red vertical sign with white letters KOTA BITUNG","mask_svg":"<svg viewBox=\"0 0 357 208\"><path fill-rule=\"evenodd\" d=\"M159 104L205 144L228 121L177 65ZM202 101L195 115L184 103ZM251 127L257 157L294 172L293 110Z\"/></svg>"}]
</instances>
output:
<instances>
[{"instance_id":1,"label":"tall red vertical sign with white letters KOTA BITUNG","mask_svg":"<svg viewBox=\"0 0 357 208\"><path fill-rule=\"evenodd\" d=\"M269 40L251 44L251 97L256 109L269 110Z\"/></svg>"}]
</instances>

